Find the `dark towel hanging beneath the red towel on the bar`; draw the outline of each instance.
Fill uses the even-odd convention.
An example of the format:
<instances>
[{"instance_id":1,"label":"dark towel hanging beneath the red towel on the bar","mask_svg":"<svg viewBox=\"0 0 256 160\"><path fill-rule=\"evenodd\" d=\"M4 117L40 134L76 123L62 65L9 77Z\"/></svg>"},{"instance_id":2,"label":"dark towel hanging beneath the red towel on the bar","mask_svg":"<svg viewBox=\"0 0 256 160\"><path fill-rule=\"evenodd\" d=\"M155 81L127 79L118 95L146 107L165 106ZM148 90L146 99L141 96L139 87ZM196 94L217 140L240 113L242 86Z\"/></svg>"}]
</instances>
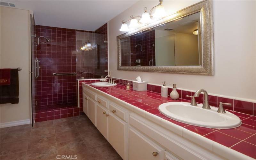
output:
<instances>
[{"instance_id":1,"label":"dark towel hanging beneath the red towel on the bar","mask_svg":"<svg viewBox=\"0 0 256 160\"><path fill-rule=\"evenodd\" d=\"M11 84L1 85L1 101L0 104L4 103L19 103L19 71L17 69L11 69Z\"/></svg>"}]
</instances>

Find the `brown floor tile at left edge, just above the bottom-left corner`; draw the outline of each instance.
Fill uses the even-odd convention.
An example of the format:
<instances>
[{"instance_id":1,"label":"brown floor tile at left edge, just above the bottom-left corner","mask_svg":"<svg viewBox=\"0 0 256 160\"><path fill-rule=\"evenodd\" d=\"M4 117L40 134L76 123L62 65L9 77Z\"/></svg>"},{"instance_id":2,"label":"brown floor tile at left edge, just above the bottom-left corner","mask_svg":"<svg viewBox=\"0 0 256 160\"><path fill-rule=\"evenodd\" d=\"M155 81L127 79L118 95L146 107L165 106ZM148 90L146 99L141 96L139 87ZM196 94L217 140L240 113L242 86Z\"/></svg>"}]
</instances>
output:
<instances>
[{"instance_id":1,"label":"brown floor tile at left edge, just above the bottom-left corner","mask_svg":"<svg viewBox=\"0 0 256 160\"><path fill-rule=\"evenodd\" d=\"M28 149L28 139L15 142L1 143L1 156L26 151Z\"/></svg>"}]
</instances>

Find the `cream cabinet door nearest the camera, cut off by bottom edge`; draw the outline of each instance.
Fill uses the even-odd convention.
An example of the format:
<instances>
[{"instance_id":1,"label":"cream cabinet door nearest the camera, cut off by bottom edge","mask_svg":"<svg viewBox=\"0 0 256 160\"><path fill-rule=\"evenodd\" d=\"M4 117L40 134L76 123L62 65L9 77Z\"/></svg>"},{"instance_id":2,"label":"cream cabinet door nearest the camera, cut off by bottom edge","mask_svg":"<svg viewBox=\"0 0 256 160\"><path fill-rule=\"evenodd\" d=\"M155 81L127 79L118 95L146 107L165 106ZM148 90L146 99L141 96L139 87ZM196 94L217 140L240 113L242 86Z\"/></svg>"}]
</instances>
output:
<instances>
[{"instance_id":1,"label":"cream cabinet door nearest the camera, cut off by bottom edge","mask_svg":"<svg viewBox=\"0 0 256 160\"><path fill-rule=\"evenodd\" d=\"M143 136L133 128L129 128L129 159L132 160L163 160L164 149Z\"/></svg>"}]
</instances>

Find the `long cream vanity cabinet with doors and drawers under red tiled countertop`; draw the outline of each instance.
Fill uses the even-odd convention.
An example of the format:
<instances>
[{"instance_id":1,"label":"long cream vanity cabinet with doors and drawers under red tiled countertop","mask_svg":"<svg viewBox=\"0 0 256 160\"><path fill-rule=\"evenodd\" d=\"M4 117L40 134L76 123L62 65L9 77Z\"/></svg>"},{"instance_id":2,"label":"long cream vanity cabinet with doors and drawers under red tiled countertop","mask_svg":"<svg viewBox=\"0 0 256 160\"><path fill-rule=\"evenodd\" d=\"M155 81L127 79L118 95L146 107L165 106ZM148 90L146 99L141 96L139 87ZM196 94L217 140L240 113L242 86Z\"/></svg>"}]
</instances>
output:
<instances>
[{"instance_id":1,"label":"long cream vanity cabinet with doors and drawers under red tiled countertop","mask_svg":"<svg viewBox=\"0 0 256 160\"><path fill-rule=\"evenodd\" d=\"M189 135L190 131L183 132L185 129L176 124L162 122L155 115L83 85L84 112L87 106L86 115L123 159L225 159L213 153L214 146L211 141L205 142L204 137ZM190 137L184 138L183 133ZM204 144L191 141L194 139Z\"/></svg>"}]
</instances>

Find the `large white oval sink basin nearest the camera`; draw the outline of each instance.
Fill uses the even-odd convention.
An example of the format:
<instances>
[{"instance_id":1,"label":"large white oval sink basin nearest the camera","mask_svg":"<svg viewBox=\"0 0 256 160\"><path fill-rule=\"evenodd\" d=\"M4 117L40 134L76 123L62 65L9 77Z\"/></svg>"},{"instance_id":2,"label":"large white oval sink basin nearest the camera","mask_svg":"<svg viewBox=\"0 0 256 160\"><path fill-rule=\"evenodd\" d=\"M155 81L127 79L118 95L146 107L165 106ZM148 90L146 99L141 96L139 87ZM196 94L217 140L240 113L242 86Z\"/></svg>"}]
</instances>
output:
<instances>
[{"instance_id":1,"label":"large white oval sink basin nearest the camera","mask_svg":"<svg viewBox=\"0 0 256 160\"><path fill-rule=\"evenodd\" d=\"M226 111L218 113L218 108L204 109L203 105L191 106L188 102L168 102L159 106L159 110L179 122L208 128L235 128L240 126L238 116Z\"/></svg>"}]
</instances>

